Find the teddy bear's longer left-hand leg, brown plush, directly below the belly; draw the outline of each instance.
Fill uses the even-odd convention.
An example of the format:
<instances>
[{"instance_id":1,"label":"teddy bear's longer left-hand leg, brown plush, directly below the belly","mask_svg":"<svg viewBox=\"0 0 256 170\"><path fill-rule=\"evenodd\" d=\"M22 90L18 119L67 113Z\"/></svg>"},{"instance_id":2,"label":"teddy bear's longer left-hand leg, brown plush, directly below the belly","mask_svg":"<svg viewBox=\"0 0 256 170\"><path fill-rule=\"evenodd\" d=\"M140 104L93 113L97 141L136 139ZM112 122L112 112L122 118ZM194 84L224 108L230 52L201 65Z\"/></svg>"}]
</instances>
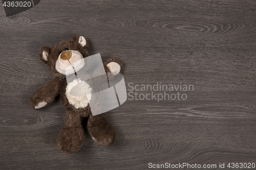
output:
<instances>
[{"instance_id":1,"label":"teddy bear's longer left-hand leg, brown plush, directly below the belly","mask_svg":"<svg viewBox=\"0 0 256 170\"><path fill-rule=\"evenodd\" d=\"M64 153L77 152L84 142L83 131L80 115L75 111L67 111L65 125L57 137L56 147Z\"/></svg>"}]
</instances>

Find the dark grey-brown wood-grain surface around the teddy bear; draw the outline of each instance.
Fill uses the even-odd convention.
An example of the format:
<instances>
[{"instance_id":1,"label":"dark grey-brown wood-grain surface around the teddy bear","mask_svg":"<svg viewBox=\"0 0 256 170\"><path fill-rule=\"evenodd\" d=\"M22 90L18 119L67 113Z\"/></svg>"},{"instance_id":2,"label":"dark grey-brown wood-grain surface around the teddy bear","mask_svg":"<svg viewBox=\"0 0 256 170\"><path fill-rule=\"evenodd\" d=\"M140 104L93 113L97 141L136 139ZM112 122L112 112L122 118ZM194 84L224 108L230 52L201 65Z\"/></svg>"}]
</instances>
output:
<instances>
[{"instance_id":1,"label":"dark grey-brown wood-grain surface around the teddy bear","mask_svg":"<svg viewBox=\"0 0 256 170\"><path fill-rule=\"evenodd\" d=\"M42 0L6 17L1 5L0 169L256 163L255 7L253 0ZM85 132L82 148L63 154L55 147L60 100L37 110L28 101L53 79L40 48L77 33L89 39L91 55L123 62L127 90L181 82L194 91L185 101L127 100L105 114L117 132L113 145Z\"/></svg>"}]
</instances>

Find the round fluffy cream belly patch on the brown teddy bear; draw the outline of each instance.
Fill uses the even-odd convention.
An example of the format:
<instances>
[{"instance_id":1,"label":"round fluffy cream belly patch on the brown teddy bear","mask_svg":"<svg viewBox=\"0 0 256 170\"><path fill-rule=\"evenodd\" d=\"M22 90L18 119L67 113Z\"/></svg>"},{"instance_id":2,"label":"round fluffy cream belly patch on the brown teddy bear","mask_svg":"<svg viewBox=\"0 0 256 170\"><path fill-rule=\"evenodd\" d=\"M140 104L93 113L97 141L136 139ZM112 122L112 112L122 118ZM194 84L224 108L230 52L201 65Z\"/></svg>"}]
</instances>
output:
<instances>
[{"instance_id":1,"label":"round fluffy cream belly patch on the brown teddy bear","mask_svg":"<svg viewBox=\"0 0 256 170\"><path fill-rule=\"evenodd\" d=\"M85 81L75 79L73 82L68 83L66 87L66 96L69 104L78 108L85 108L92 99L92 87Z\"/></svg>"}]
</instances>

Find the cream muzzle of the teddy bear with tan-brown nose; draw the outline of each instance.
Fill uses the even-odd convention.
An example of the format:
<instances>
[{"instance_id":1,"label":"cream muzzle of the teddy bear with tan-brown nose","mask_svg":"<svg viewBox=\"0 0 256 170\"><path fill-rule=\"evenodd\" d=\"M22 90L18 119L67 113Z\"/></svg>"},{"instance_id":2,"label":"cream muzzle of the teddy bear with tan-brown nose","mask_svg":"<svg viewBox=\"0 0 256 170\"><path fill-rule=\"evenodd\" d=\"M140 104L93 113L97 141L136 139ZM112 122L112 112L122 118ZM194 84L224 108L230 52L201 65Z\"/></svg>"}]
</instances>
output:
<instances>
[{"instance_id":1,"label":"cream muzzle of the teddy bear with tan-brown nose","mask_svg":"<svg viewBox=\"0 0 256 170\"><path fill-rule=\"evenodd\" d=\"M71 75L84 66L83 56L79 51L67 50L59 54L55 68L62 75Z\"/></svg>"}]
</instances>

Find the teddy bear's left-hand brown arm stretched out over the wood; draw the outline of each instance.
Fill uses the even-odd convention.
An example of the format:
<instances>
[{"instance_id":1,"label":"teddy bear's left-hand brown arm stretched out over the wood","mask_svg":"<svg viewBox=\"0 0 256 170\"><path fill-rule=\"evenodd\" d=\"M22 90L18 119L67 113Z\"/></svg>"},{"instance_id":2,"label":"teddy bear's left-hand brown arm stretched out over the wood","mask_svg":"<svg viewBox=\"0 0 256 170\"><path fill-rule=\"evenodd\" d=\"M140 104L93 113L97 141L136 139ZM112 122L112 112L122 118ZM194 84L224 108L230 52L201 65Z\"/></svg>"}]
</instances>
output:
<instances>
[{"instance_id":1,"label":"teddy bear's left-hand brown arm stretched out over the wood","mask_svg":"<svg viewBox=\"0 0 256 170\"><path fill-rule=\"evenodd\" d=\"M29 106L35 109L42 108L54 101L59 94L60 80L55 78L48 84L40 87L29 100Z\"/></svg>"}]
</instances>

